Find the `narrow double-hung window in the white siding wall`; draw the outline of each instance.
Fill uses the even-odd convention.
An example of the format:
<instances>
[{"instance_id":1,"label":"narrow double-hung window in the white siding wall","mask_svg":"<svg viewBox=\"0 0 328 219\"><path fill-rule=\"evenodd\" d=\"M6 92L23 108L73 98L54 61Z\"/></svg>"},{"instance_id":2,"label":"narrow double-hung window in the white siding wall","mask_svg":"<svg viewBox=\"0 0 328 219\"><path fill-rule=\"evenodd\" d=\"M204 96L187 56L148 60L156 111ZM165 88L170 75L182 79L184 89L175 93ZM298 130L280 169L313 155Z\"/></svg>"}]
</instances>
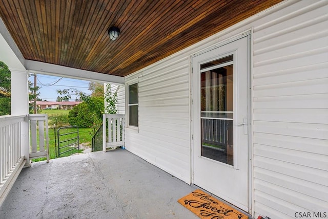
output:
<instances>
[{"instance_id":1,"label":"narrow double-hung window in the white siding wall","mask_svg":"<svg viewBox=\"0 0 328 219\"><path fill-rule=\"evenodd\" d=\"M129 125L138 126L138 83L129 85Z\"/></svg>"}]
</instances>

